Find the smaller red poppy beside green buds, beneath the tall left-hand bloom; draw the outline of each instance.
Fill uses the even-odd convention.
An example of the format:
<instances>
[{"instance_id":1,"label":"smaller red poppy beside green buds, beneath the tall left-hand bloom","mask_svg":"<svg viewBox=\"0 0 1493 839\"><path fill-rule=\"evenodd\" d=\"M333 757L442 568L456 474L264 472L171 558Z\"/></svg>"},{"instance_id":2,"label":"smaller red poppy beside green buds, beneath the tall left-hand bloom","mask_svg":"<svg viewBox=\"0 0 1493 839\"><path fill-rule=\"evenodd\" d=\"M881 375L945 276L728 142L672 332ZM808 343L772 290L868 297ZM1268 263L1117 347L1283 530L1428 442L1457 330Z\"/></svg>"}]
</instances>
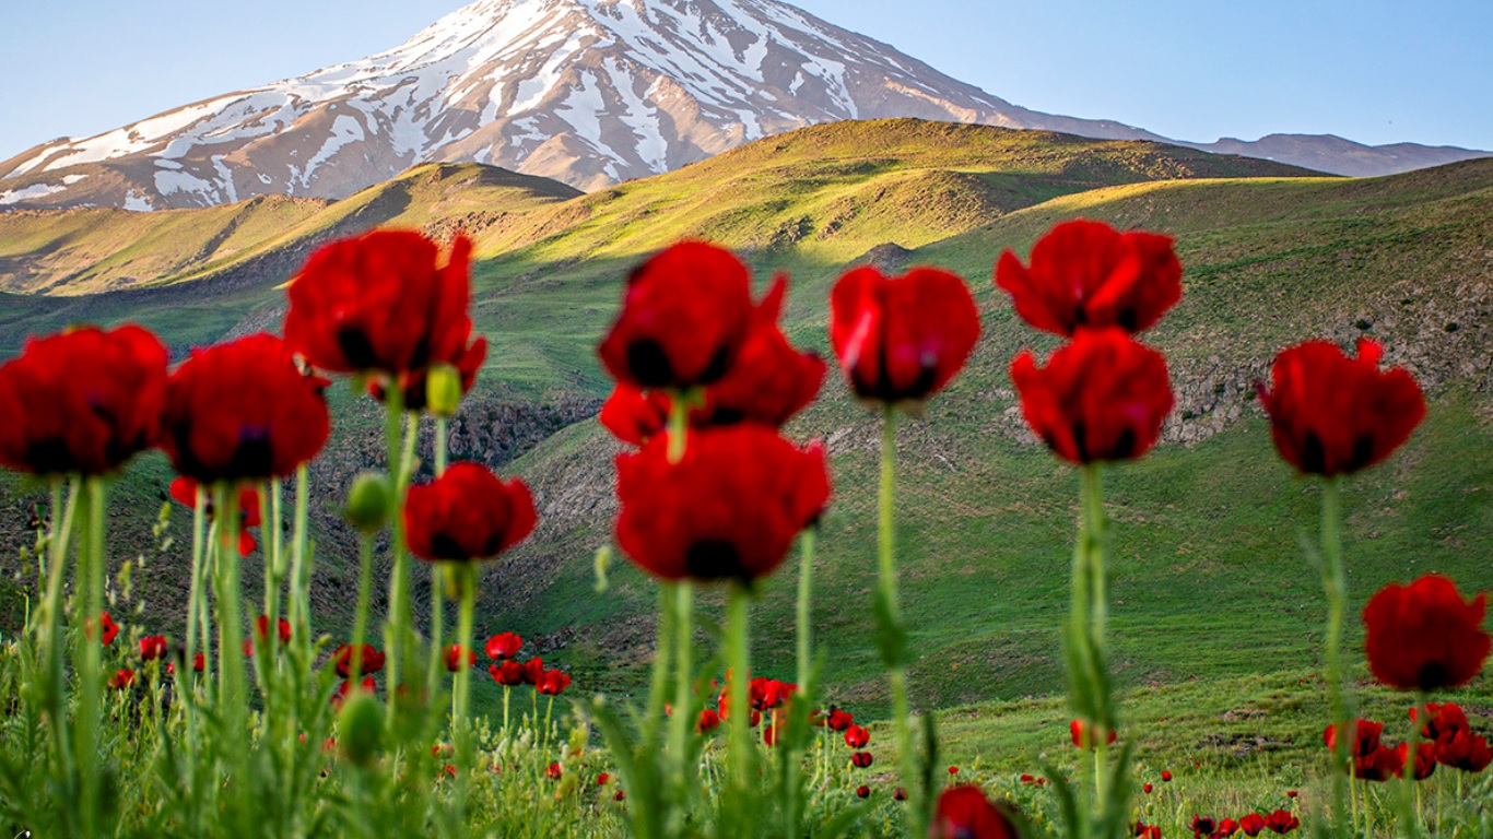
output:
<instances>
[{"instance_id":1,"label":"smaller red poppy beside green buds, beneath the tall left-hand bloom","mask_svg":"<svg viewBox=\"0 0 1493 839\"><path fill-rule=\"evenodd\" d=\"M529 487L500 481L476 463L454 463L445 475L409 488L405 533L423 560L488 560L523 542L537 514Z\"/></svg>"}]
</instances>

